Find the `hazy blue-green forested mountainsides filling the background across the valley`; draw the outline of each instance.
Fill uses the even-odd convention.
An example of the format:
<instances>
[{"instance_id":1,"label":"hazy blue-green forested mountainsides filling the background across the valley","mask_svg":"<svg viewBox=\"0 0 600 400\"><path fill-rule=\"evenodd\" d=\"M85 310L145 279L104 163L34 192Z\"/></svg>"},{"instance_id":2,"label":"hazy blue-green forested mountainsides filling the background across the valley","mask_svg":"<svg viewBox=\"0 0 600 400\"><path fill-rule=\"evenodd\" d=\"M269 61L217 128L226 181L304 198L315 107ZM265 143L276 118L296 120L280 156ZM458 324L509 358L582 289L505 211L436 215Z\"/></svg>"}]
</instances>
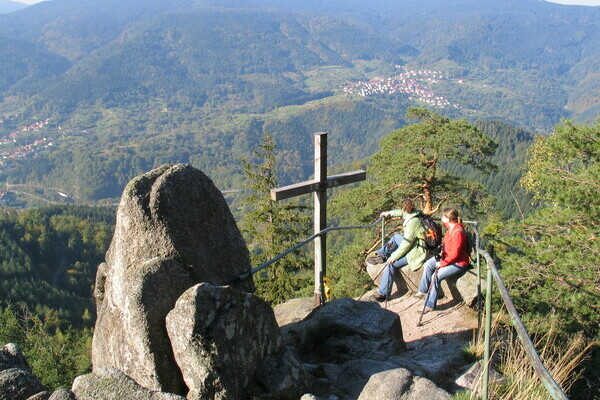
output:
<instances>
[{"instance_id":1,"label":"hazy blue-green forested mountainsides filling the background across the valley","mask_svg":"<svg viewBox=\"0 0 600 400\"><path fill-rule=\"evenodd\" d=\"M0 16L0 177L89 202L189 162L239 189L270 132L289 183L310 174L312 132L331 133L334 166L363 162L437 98L545 133L598 112L599 19L538 1L40 3ZM405 92L344 91L398 74Z\"/></svg>"}]
</instances>

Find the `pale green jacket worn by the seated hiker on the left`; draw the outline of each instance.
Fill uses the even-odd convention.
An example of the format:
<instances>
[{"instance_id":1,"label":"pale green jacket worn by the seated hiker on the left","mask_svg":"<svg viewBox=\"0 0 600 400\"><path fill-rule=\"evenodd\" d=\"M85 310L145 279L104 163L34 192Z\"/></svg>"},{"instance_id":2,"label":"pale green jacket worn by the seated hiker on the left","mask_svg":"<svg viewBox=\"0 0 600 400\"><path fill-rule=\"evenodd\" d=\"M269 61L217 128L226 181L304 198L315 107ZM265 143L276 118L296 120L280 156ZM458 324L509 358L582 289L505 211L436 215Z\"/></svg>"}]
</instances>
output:
<instances>
[{"instance_id":1,"label":"pale green jacket worn by the seated hiker on the left","mask_svg":"<svg viewBox=\"0 0 600 400\"><path fill-rule=\"evenodd\" d=\"M404 222L404 240L400 246L390 255L390 259L399 260L406 256L408 266L413 271L423 266L427 258L427 249L425 248L425 228L419 219L420 211L405 214L402 210L392 210L390 215L393 217L403 217Z\"/></svg>"}]
</instances>

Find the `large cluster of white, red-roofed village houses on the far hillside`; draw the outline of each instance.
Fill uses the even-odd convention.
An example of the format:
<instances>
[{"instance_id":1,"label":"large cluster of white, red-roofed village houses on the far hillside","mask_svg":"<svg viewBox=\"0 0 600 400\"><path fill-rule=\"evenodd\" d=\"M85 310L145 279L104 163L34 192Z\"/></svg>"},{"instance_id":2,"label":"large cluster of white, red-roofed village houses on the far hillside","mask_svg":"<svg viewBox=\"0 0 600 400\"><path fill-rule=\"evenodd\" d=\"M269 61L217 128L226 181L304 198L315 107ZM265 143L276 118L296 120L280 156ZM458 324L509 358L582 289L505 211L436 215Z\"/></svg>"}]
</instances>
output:
<instances>
[{"instance_id":1,"label":"large cluster of white, red-roofed village houses on the far hillside","mask_svg":"<svg viewBox=\"0 0 600 400\"><path fill-rule=\"evenodd\" d=\"M396 68L401 68L396 66ZM357 94L367 97L374 95L408 94L410 100L420 101L430 106L439 108L460 108L458 104L451 104L449 100L437 94L431 84L447 80L448 76L442 71L404 70L392 77L374 77L369 81L348 82L342 90L345 93Z\"/></svg>"}]
</instances>

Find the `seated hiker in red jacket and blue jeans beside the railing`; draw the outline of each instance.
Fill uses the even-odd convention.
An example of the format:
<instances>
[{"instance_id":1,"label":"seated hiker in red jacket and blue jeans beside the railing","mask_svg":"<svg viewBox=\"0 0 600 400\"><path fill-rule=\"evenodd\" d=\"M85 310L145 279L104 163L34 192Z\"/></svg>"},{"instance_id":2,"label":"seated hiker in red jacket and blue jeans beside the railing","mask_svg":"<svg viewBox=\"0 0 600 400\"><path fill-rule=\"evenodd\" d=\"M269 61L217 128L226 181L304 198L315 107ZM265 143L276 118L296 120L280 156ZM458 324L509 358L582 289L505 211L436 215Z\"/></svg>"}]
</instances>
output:
<instances>
[{"instance_id":1,"label":"seated hiker in red jacket and blue jeans beside the railing","mask_svg":"<svg viewBox=\"0 0 600 400\"><path fill-rule=\"evenodd\" d=\"M425 312L435 309L440 282L458 274L464 274L469 268L467 234L462 225L462 219L454 208L442 211L442 222L446 227L442 252L439 256L431 257L423 264L421 285L415 297L425 298ZM437 271L436 279L431 284L432 277ZM429 289L431 286L431 289ZM429 289L429 291L428 291Z\"/></svg>"}]
</instances>

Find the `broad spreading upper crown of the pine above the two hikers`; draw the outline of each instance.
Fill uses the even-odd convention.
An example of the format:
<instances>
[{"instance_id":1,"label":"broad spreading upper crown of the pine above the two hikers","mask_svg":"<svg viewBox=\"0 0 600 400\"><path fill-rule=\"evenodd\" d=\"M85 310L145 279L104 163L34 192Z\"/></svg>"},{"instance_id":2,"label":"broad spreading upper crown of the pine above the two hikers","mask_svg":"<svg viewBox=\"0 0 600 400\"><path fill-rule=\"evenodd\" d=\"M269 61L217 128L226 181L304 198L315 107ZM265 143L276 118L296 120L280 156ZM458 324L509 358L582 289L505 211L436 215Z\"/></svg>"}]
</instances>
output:
<instances>
[{"instance_id":1,"label":"broad spreading upper crown of the pine above the two hikers","mask_svg":"<svg viewBox=\"0 0 600 400\"><path fill-rule=\"evenodd\" d=\"M423 108L409 109L407 117L422 122L381 140L381 150L370 159L368 182L336 199L338 209L352 210L353 221L366 222L404 198L415 198L426 212L450 202L476 212L483 188L450 174L443 163L492 170L488 159L494 142L465 120L451 120Z\"/></svg>"}]
</instances>

